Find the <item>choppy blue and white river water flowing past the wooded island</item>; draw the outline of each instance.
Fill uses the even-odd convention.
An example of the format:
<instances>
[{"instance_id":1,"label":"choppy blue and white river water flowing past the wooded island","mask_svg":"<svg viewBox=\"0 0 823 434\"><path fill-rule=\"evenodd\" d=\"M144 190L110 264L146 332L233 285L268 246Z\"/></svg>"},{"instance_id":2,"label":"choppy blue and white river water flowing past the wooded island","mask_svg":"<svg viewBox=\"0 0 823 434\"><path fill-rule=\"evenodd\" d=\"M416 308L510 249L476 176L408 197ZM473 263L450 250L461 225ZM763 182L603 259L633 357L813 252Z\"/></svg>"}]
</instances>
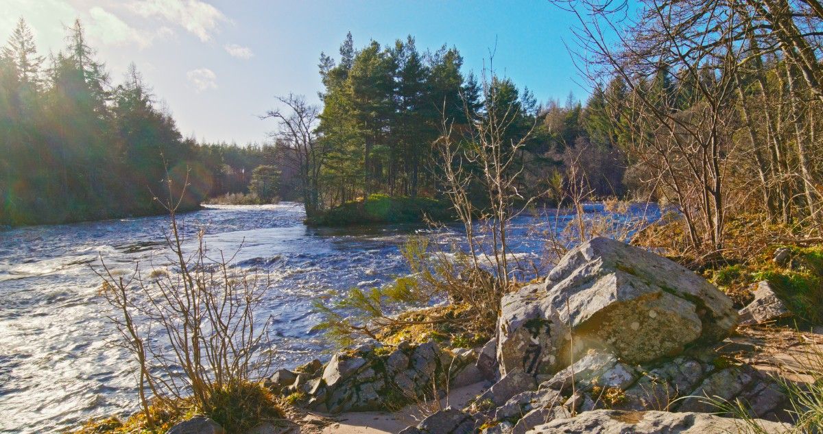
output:
<instances>
[{"instance_id":1,"label":"choppy blue and white river water flowing past the wooded island","mask_svg":"<svg viewBox=\"0 0 823 434\"><path fill-rule=\"evenodd\" d=\"M604 212L597 205L587 211ZM651 217L647 211L635 207L628 215ZM546 231L571 218L546 215L514 220L510 245L524 261L539 261ZM242 244L235 265L272 275L258 317L269 318L284 367L328 358L330 344L313 330L315 299L407 273L398 247L412 234L442 245L463 237L458 227L314 229L304 217L294 203L211 205L180 216L188 233L206 229L210 250L234 252ZM133 360L114 345L119 335L91 267L100 258L123 271L150 261L167 224L158 216L0 231L0 432L58 432L136 409Z\"/></svg>"}]
</instances>

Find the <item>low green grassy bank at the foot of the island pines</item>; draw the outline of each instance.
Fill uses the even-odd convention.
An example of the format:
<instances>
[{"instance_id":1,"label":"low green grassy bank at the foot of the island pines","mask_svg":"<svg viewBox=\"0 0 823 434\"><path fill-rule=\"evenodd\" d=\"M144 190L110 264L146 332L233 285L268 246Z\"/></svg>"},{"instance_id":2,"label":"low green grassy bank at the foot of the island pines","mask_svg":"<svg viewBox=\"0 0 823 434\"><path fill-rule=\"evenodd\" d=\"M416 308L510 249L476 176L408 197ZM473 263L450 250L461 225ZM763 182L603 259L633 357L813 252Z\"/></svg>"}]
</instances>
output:
<instances>
[{"instance_id":1,"label":"low green grassy bank at the foot of the island pines","mask_svg":"<svg viewBox=\"0 0 823 434\"><path fill-rule=\"evenodd\" d=\"M365 201L348 201L306 219L306 224L316 226L351 226L356 224L417 223L424 215L435 221L453 219L449 205L428 197L391 197L373 194Z\"/></svg>"}]
</instances>

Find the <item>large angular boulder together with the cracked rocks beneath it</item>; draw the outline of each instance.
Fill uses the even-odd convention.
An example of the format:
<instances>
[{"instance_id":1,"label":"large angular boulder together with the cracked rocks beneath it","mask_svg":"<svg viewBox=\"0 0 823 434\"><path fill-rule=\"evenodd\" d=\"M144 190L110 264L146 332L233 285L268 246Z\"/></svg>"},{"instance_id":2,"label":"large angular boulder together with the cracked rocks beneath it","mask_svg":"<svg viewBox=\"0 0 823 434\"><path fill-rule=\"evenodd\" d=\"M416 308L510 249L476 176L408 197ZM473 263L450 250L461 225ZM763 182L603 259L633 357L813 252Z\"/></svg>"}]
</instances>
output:
<instances>
[{"instance_id":1,"label":"large angular boulder together with the cracked rocks beneath it","mask_svg":"<svg viewBox=\"0 0 823 434\"><path fill-rule=\"evenodd\" d=\"M740 402L756 418L785 416L786 397L772 379L716 349L736 325L732 301L642 249L595 238L542 284L504 296L501 312L502 377L472 408L483 432L658 432L654 424L703 432L708 419L691 414L718 411L709 399ZM597 411L604 409L630 413ZM560 424L574 413L592 416Z\"/></svg>"}]
</instances>

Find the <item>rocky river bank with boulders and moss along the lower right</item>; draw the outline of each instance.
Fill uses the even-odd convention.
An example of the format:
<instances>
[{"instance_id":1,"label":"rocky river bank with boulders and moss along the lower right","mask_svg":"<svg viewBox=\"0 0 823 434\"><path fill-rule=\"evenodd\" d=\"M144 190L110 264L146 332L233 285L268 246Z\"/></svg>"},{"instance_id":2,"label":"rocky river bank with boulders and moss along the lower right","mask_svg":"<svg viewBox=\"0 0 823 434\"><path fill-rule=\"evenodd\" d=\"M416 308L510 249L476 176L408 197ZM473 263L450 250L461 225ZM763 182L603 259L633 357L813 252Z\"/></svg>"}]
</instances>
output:
<instances>
[{"instance_id":1,"label":"rocky river bank with boulders and moss along the lower right","mask_svg":"<svg viewBox=\"0 0 823 434\"><path fill-rule=\"evenodd\" d=\"M265 432L396 432L403 423L416 425L407 433L617 425L649 433L675 426L747 432L744 425L753 423L761 432L788 432L794 428L787 422L802 423L790 413L797 409L793 399L817 393L793 385L821 377L810 363L823 360L823 336L738 325L783 314L770 310L772 316L751 321L747 311L765 313L757 299L739 313L732 305L681 265L595 238L564 256L545 279L505 295L499 334L480 347L455 347L455 336L387 339L338 352L322 366L278 371L268 387L298 413ZM778 377L770 376L775 372ZM723 410L732 403L744 413ZM705 414L718 411L743 418Z\"/></svg>"}]
</instances>

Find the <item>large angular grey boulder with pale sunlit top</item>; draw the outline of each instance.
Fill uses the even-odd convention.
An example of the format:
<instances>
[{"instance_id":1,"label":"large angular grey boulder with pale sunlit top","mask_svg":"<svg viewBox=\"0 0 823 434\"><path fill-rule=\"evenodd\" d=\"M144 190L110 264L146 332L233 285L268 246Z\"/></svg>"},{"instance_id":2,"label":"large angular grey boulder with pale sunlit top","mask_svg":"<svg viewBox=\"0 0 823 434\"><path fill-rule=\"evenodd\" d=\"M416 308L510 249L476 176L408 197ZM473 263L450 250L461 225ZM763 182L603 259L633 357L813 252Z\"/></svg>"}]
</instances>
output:
<instances>
[{"instance_id":1,"label":"large angular grey boulder with pale sunlit top","mask_svg":"<svg viewBox=\"0 0 823 434\"><path fill-rule=\"evenodd\" d=\"M628 364L723 339L737 324L732 300L662 256L609 238L568 252L542 283L504 296L500 373L553 374L589 349Z\"/></svg>"}]
</instances>

